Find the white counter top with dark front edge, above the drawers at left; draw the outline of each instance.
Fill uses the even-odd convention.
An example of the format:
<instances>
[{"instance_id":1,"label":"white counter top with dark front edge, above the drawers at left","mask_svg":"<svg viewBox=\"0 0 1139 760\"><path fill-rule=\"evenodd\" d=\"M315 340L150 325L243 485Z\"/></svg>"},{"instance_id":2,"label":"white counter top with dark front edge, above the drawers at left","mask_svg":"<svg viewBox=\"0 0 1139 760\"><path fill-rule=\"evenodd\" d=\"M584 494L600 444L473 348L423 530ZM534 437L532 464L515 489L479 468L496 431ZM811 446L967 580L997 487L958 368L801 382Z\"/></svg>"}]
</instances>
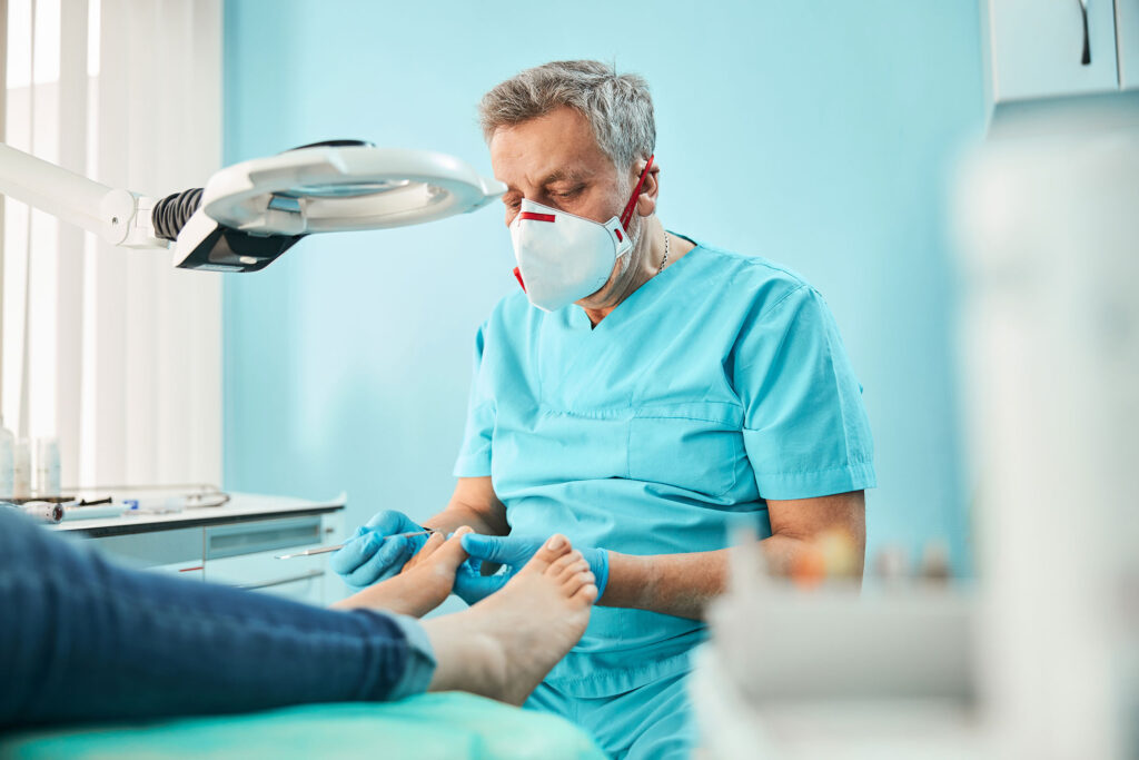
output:
<instances>
[{"instance_id":1,"label":"white counter top with dark front edge, above the drawers at left","mask_svg":"<svg viewBox=\"0 0 1139 760\"><path fill-rule=\"evenodd\" d=\"M96 517L92 520L69 518L48 528L58 531L76 531L85 533L91 538L101 538L104 536L123 536L179 528L247 522L251 517L269 518L321 514L343 509L347 504L346 493L341 493L335 499L326 501L310 501L287 496L265 496L261 493L230 493L229 496L230 500L220 507L196 507L162 515L126 513L117 517Z\"/></svg>"}]
</instances>

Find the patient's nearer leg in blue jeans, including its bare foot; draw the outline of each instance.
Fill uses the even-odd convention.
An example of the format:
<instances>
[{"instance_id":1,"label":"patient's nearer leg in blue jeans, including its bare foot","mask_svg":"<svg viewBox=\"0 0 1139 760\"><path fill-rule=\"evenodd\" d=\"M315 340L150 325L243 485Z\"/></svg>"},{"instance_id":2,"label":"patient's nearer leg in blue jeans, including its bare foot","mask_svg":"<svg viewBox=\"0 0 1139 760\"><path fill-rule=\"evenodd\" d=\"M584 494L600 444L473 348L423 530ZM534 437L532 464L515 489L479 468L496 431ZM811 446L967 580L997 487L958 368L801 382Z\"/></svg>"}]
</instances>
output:
<instances>
[{"instance_id":1,"label":"patient's nearer leg in blue jeans, including its bare foot","mask_svg":"<svg viewBox=\"0 0 1139 760\"><path fill-rule=\"evenodd\" d=\"M0 507L0 729L384 701L428 683L521 704L596 597L560 539L498 594L420 624L129 570Z\"/></svg>"}]
</instances>

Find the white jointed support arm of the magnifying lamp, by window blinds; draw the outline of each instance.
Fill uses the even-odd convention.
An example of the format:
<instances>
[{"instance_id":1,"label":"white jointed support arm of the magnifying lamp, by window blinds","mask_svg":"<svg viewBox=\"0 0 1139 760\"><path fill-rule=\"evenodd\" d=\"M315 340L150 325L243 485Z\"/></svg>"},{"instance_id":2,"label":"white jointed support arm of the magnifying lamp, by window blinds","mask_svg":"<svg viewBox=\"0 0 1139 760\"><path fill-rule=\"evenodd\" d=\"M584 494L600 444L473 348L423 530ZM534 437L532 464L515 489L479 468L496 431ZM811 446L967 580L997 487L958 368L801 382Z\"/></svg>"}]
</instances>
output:
<instances>
[{"instance_id":1,"label":"white jointed support arm of the magnifying lamp, by window blinds","mask_svg":"<svg viewBox=\"0 0 1139 760\"><path fill-rule=\"evenodd\" d=\"M82 227L110 245L170 247L154 234L154 198L107 187L5 142L0 142L0 194Z\"/></svg>"}]
</instances>

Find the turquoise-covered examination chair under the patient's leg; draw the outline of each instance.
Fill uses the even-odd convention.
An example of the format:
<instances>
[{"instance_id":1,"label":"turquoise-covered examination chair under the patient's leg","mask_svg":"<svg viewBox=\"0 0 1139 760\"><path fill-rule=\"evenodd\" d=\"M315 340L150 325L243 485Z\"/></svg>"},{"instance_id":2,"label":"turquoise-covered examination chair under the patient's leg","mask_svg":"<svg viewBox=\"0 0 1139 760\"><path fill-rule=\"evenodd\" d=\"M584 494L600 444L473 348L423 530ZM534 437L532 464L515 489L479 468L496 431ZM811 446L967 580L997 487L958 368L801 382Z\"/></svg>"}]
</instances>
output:
<instances>
[{"instance_id":1,"label":"turquoise-covered examination chair under the patient's leg","mask_svg":"<svg viewBox=\"0 0 1139 760\"><path fill-rule=\"evenodd\" d=\"M170 757L604 760L605 754L562 718L460 693L0 736L3 760Z\"/></svg>"}]
</instances>

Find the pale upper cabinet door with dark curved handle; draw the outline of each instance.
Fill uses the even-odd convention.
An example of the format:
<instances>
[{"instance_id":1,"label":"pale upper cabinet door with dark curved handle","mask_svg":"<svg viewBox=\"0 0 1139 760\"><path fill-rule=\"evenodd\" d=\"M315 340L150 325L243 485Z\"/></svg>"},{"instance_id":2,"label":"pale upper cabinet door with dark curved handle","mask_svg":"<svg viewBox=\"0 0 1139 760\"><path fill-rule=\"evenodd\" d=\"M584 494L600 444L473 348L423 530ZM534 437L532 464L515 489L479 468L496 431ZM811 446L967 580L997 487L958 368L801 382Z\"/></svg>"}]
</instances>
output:
<instances>
[{"instance_id":1,"label":"pale upper cabinet door with dark curved handle","mask_svg":"<svg viewBox=\"0 0 1139 760\"><path fill-rule=\"evenodd\" d=\"M1115 1L982 0L994 103L1118 89Z\"/></svg>"}]
</instances>

